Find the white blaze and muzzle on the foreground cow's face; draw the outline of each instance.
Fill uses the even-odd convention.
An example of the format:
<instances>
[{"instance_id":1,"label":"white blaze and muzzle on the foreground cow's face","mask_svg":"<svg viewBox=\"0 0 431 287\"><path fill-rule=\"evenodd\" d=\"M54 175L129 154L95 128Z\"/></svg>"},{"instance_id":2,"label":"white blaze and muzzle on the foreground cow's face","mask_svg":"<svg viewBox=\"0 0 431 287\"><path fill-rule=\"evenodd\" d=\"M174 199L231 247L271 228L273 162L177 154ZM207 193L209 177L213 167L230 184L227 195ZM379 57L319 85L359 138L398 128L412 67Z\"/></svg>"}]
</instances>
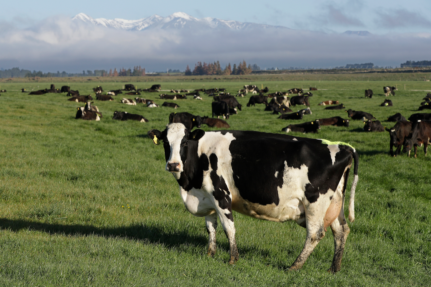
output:
<instances>
[{"instance_id":1,"label":"white blaze and muzzle on the foreground cow's face","mask_svg":"<svg viewBox=\"0 0 431 287\"><path fill-rule=\"evenodd\" d=\"M171 154L166 162L166 170L173 173L179 179L180 173L184 171L184 165L181 160L181 148L187 145L186 127L182 123L170 123L167 127L166 138L167 141L163 142L164 148L169 145Z\"/></svg>"}]
</instances>

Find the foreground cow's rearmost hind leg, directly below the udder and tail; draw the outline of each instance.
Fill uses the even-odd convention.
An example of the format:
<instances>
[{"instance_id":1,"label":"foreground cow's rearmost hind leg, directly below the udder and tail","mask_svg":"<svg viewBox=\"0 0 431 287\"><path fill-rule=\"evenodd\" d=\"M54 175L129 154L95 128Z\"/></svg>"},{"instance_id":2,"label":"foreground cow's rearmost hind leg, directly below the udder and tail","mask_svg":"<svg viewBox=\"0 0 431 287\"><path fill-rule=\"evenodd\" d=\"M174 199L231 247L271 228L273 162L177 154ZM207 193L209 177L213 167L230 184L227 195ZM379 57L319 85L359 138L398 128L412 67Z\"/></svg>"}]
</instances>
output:
<instances>
[{"instance_id":1,"label":"foreground cow's rearmost hind leg, directly below the udder and tail","mask_svg":"<svg viewBox=\"0 0 431 287\"><path fill-rule=\"evenodd\" d=\"M331 229L332 234L334 235L334 259L332 259L332 265L328 269L328 272L335 273L340 271L344 246L346 245L347 235L350 233L350 228L347 225L346 218L344 217L343 209L341 209L338 218L331 223Z\"/></svg>"}]
</instances>

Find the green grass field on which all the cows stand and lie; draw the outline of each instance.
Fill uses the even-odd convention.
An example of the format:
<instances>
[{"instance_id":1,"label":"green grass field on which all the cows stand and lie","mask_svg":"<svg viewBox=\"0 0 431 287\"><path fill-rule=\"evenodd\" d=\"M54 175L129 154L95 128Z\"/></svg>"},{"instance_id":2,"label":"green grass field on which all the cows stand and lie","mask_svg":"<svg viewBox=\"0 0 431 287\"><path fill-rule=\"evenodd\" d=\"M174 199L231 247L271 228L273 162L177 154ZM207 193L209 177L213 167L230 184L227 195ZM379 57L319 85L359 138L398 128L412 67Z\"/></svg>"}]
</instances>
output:
<instances>
[{"instance_id":1,"label":"green grass field on which all the cows stand and lie","mask_svg":"<svg viewBox=\"0 0 431 287\"><path fill-rule=\"evenodd\" d=\"M249 94L238 99L244 107L229 118L231 130L281 133L289 123L347 118L344 110L325 111L317 105L329 99L370 112L393 127L384 120L396 112L405 117L417 113L425 90L431 90L430 82L399 80L252 83L268 86L270 92L317 86L310 98L312 115L278 120L263 111L264 105L247 108ZM123 84L102 86L109 90ZM145 88L150 83L134 84ZM217 86L234 93L244 84L250 81L164 82L162 89ZM390 96L394 106L380 107L382 87L396 84L399 90ZM177 100L180 108L174 110L124 105L119 103L122 95L114 96L116 102L94 101L103 113L95 122L75 120L81 103L67 101L65 94L20 91L37 85L49 88L49 83L1 84L8 91L0 96L0 286L430 286L431 157L422 148L416 159L390 157L388 133L365 133L363 123L354 120L349 128L293 133L349 142L359 153L356 221L349 224L341 271L326 272L334 253L331 232L303 269L288 272L303 248L305 228L238 213L240 259L231 266L221 226L217 254L206 257L204 219L185 210L178 184L164 171L162 146L147 137L150 129L163 130L173 111L210 116L211 98ZM85 95L96 85L71 83L71 88ZM375 96L365 99L364 89L373 89ZM141 97L161 105L158 94ZM112 120L114 111L142 114L150 122Z\"/></svg>"}]
</instances>

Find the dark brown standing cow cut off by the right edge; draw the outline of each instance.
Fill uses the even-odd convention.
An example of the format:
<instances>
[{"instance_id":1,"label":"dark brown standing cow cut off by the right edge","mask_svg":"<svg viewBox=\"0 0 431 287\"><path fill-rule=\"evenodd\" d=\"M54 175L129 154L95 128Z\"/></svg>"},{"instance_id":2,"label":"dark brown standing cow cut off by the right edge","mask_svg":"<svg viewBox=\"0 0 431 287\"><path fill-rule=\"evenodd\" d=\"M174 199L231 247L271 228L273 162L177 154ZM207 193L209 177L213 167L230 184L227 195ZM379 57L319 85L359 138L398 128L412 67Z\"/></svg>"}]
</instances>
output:
<instances>
[{"instance_id":1,"label":"dark brown standing cow cut off by the right edge","mask_svg":"<svg viewBox=\"0 0 431 287\"><path fill-rule=\"evenodd\" d=\"M409 151L410 156L410 150L412 147L415 149L415 155L417 156L418 151L418 145L422 144L424 145L424 152L425 156L427 156L427 149L428 145L431 145L430 142L431 139L431 120L417 120L416 122L412 123L412 130L409 133L409 136L407 136L404 139L403 142L403 152Z\"/></svg>"}]
</instances>

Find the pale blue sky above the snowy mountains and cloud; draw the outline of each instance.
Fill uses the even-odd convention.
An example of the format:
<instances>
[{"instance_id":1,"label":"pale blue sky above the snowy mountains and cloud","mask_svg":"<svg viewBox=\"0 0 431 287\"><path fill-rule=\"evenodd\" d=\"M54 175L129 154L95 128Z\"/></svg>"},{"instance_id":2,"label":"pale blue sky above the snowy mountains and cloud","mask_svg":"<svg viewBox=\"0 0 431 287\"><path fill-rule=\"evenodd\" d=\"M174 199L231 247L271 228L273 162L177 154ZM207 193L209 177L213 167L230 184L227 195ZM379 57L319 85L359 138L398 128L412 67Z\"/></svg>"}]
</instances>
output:
<instances>
[{"instance_id":1,"label":"pale blue sky above the snowy mountains and cloud","mask_svg":"<svg viewBox=\"0 0 431 287\"><path fill-rule=\"evenodd\" d=\"M141 19L153 14L185 12L240 22L282 25L293 29L344 32L367 30L373 34L430 32L431 1L415 0L268 0L268 1L3 1L0 21L24 28L55 15L80 12L93 18Z\"/></svg>"}]
</instances>

